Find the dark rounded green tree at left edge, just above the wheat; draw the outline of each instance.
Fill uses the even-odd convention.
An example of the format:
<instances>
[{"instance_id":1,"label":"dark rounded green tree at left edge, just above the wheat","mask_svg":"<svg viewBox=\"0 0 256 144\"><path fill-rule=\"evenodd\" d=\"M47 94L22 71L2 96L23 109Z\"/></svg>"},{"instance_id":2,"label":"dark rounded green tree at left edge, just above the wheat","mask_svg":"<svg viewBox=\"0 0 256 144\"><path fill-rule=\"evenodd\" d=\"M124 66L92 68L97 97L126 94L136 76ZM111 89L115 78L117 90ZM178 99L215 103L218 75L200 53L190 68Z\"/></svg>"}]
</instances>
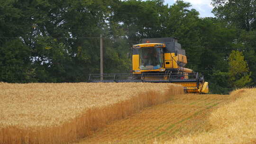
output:
<instances>
[{"instance_id":1,"label":"dark rounded green tree at left edge, just above the wheat","mask_svg":"<svg viewBox=\"0 0 256 144\"><path fill-rule=\"evenodd\" d=\"M31 51L20 39L0 46L0 81L33 82L35 70L31 66Z\"/></svg>"}]
</instances>

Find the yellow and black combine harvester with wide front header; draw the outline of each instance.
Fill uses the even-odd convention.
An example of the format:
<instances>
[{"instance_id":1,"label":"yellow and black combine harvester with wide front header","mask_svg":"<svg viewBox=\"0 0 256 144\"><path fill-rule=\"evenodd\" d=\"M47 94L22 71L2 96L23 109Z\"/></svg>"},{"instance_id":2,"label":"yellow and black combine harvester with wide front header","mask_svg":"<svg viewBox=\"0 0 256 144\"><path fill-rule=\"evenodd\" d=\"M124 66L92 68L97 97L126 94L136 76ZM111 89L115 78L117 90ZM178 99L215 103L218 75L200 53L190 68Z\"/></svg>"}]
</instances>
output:
<instances>
[{"instance_id":1,"label":"yellow and black combine harvester with wide front header","mask_svg":"<svg viewBox=\"0 0 256 144\"><path fill-rule=\"evenodd\" d=\"M89 82L170 82L188 93L208 93L208 82L187 64L185 50L175 37L142 39L132 47L132 73L90 74Z\"/></svg>"}]
</instances>

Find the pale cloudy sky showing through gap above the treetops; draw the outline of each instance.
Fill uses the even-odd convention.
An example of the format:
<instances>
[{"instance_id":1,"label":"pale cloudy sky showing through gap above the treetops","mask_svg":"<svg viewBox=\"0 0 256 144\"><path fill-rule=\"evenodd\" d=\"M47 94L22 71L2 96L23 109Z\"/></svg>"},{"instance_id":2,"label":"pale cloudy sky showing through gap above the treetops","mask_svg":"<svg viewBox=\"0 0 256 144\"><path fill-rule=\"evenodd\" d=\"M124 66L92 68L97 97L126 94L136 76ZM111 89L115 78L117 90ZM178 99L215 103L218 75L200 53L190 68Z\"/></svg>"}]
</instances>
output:
<instances>
[{"instance_id":1,"label":"pale cloudy sky showing through gap above the treetops","mask_svg":"<svg viewBox=\"0 0 256 144\"><path fill-rule=\"evenodd\" d=\"M165 0L165 4L168 4L169 6L173 5L176 0ZM185 2L190 2L192 5L192 9L196 9L199 11L200 16L199 17L214 17L214 15L211 13L211 10L213 7L210 5L211 0L183 0Z\"/></svg>"}]
</instances>

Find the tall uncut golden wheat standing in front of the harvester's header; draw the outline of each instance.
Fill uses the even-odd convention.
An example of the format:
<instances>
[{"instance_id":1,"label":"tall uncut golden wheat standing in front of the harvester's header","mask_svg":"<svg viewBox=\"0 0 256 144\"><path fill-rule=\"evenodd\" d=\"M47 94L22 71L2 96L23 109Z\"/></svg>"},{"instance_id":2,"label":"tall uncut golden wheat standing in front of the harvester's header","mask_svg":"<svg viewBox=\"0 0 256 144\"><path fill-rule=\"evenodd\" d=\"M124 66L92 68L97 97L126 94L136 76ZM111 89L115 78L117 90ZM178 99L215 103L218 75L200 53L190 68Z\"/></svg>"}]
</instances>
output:
<instances>
[{"instance_id":1,"label":"tall uncut golden wheat standing in front of the harvester's header","mask_svg":"<svg viewBox=\"0 0 256 144\"><path fill-rule=\"evenodd\" d=\"M166 83L0 82L0 144L73 142L182 93Z\"/></svg>"}]
</instances>

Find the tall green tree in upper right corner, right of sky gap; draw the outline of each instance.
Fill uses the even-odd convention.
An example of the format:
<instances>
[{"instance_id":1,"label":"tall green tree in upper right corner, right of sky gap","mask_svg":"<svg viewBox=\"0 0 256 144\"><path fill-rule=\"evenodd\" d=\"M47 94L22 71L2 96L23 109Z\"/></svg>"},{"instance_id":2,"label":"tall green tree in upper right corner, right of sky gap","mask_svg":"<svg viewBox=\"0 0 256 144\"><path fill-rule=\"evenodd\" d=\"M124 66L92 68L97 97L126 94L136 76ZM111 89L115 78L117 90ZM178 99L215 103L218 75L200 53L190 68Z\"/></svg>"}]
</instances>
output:
<instances>
[{"instance_id":1,"label":"tall green tree in upper right corner, right of sky gap","mask_svg":"<svg viewBox=\"0 0 256 144\"><path fill-rule=\"evenodd\" d=\"M238 29L237 49L243 54L251 71L251 78L256 84L256 0L212 0L213 13L224 27L235 26Z\"/></svg>"}]
</instances>

